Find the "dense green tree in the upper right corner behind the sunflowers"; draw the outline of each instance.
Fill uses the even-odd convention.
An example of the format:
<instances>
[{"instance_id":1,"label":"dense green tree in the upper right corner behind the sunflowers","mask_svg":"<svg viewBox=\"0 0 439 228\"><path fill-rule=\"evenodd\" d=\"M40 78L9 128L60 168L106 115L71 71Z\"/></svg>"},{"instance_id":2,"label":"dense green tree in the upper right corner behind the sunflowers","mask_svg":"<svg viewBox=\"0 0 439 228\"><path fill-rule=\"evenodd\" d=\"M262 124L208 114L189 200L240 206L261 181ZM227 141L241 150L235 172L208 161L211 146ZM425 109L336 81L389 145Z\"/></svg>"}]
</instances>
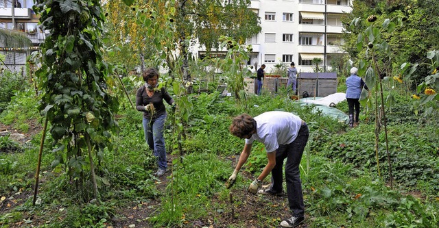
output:
<instances>
[{"instance_id":1,"label":"dense green tree in the upper right corner behind the sunflowers","mask_svg":"<svg viewBox=\"0 0 439 228\"><path fill-rule=\"evenodd\" d=\"M374 7L375 6L375 7ZM364 10L367 9L367 10ZM348 52L354 65L359 62L359 57L364 55L367 49L357 49L358 35L366 29L367 21L360 20L357 25L348 26L354 18L368 18L370 15L377 16L377 23L383 23L386 18L401 17L403 25L395 27L392 34L383 34L387 41L390 52L385 55L377 53L377 62L383 72L398 75L401 64L404 62L422 63L428 62L426 53L439 49L437 34L439 32L439 6L436 1L353 1L353 11L343 18L346 33L344 33L345 45L343 49ZM392 62L388 62L392 59ZM414 85L428 75L429 68L423 66L412 75ZM391 75L388 75L391 76Z\"/></svg>"}]
</instances>

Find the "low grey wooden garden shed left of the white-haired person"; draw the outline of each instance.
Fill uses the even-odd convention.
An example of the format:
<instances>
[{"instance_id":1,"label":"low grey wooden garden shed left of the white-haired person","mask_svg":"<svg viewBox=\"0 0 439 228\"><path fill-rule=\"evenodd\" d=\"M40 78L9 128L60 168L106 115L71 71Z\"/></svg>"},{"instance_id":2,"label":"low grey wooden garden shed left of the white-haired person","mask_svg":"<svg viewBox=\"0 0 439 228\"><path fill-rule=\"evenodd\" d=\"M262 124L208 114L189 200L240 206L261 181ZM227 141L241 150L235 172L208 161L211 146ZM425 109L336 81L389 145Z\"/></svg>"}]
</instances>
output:
<instances>
[{"instance_id":1,"label":"low grey wooden garden shed left of the white-haired person","mask_svg":"<svg viewBox=\"0 0 439 228\"><path fill-rule=\"evenodd\" d=\"M298 95L326 97L337 92L337 73L301 72L297 77ZM306 93L305 93L306 92Z\"/></svg>"}]
</instances>

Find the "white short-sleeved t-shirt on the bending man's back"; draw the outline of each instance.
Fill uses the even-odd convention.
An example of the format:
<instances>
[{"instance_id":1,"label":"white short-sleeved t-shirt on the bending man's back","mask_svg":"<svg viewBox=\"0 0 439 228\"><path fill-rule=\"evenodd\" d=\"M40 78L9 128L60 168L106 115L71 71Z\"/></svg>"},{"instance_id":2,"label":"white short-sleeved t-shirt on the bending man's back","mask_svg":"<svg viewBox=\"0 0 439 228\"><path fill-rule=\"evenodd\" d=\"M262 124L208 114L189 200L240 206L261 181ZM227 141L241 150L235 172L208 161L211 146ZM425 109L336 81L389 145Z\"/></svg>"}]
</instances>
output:
<instances>
[{"instance_id":1,"label":"white short-sleeved t-shirt on the bending man's back","mask_svg":"<svg viewBox=\"0 0 439 228\"><path fill-rule=\"evenodd\" d=\"M297 138L302 125L299 116L281 111L264 112L254 117L254 120L256 134L246 139L246 144L252 144L254 140L262 142L268 153L276 151L279 145L292 143Z\"/></svg>"}]
</instances>

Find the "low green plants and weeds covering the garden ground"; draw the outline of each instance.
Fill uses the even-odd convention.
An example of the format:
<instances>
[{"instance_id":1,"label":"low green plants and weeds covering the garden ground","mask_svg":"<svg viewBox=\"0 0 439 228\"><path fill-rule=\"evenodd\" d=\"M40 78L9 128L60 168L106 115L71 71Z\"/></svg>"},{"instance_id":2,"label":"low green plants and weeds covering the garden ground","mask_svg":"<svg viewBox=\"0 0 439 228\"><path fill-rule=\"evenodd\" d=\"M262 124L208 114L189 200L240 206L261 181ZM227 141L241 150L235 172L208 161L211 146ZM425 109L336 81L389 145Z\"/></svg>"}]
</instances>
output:
<instances>
[{"instance_id":1,"label":"low green plants and weeds covering the garden ground","mask_svg":"<svg viewBox=\"0 0 439 228\"><path fill-rule=\"evenodd\" d=\"M128 84L126 86L130 87ZM18 100L27 102L23 97L16 96L12 103ZM131 108L121 108L117 113L120 131L112 139L118 147L104 151L105 165L97 175L101 205L95 205L93 201L83 205L75 197L78 192L62 187L67 184L64 182L66 179L62 178L65 171L50 166L56 154L49 150L43 152L45 181L40 188L37 205L32 207L30 198L12 203L12 195L32 192L32 173L36 166L34 152L38 148L38 140L35 140L34 146L23 152L0 155L3 164L1 181L6 183L0 187L0 196L8 197L2 201L4 203L1 208L5 213L0 217L0 223L10 227L25 220L29 224L40 224L43 227L63 226L67 223L73 227L120 225L121 218L130 220L121 215L121 209L126 207L144 207L143 210L149 210L150 216L145 220L130 222L146 227L190 227L196 221L207 224L209 220L217 225L224 222L224 216L232 213L228 202L230 192L235 192L235 197L238 197L233 203L235 210L248 201L245 194L244 198L240 198L239 192L244 192L252 173L259 173L263 168L266 162L264 150L260 144L255 145L253 155L237 185L227 190L224 181L233 170L232 163L236 162L233 157L241 152L243 143L231 136L227 128L230 118L244 112L245 106L235 103L233 97L221 97L217 92L194 94L190 101L193 110L191 121L186 126L187 138L182 140L182 162L177 165L178 157L171 156L174 157L174 165L172 178L166 181L167 188L158 188L163 180L152 175L154 157L143 142L139 114ZM121 103L128 102L128 99L121 99ZM312 107L300 107L287 99L286 94L251 95L248 105L252 115L266 110L285 110L302 116L309 123L311 138L305 151L309 153L309 164L307 155L304 155L301 168L307 214L311 218L307 220L309 227L437 225L439 164L436 157L439 144L435 139L438 138L439 123L423 116L414 116L413 113L411 116L414 117L410 118L412 121L408 121L407 109L410 110L412 101L407 97L399 96L392 106L392 112L389 112L395 190L390 190L376 172L373 125L366 121L372 118L370 112L361 115L358 127L346 131L347 125L344 123L338 123L322 113L311 112ZM339 106L343 107L343 104ZM21 115L19 110L10 110L16 116ZM170 124L171 118L167 122ZM169 127L165 135L167 146L177 147L172 125ZM382 142L380 145L383 147ZM381 156L381 160L385 159L384 154ZM383 168L386 165L384 162L380 164ZM86 185L85 188L91 186ZM148 209L148 202L158 200L162 202L160 205L151 204ZM265 200L265 203L271 201L263 197L255 200ZM7 203L11 207L5 206ZM253 208L254 205L247 207ZM269 210L255 212L256 217L252 219L256 219L261 226L276 226L279 223L276 212L281 208L274 206ZM41 210L47 213L38 213ZM247 218L246 213L250 212L241 213L237 216ZM34 214L34 220L28 220L31 214ZM57 217L63 219L53 219ZM50 221L51 225L43 225L40 221ZM232 224L240 227L248 221L239 219L229 222L231 227Z\"/></svg>"}]
</instances>

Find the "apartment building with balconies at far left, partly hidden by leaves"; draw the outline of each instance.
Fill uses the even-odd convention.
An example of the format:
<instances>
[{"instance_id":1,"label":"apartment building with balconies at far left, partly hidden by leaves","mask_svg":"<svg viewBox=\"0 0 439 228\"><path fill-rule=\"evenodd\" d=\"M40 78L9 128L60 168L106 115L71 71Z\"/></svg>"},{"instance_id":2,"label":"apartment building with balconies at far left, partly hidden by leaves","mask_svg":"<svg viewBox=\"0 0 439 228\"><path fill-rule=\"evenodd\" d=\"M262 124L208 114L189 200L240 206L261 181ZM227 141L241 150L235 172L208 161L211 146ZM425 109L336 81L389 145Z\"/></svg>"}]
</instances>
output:
<instances>
[{"instance_id":1,"label":"apartment building with balconies at far left, partly hidden by leaves","mask_svg":"<svg viewBox=\"0 0 439 228\"><path fill-rule=\"evenodd\" d=\"M21 31L32 45L29 47L11 47L5 40L0 40L0 54L5 55L5 60L0 64L12 71L20 71L25 66L26 57L38 48L45 39L44 32L38 28L38 16L34 10L34 0L0 0L0 29L5 32Z\"/></svg>"}]
</instances>

